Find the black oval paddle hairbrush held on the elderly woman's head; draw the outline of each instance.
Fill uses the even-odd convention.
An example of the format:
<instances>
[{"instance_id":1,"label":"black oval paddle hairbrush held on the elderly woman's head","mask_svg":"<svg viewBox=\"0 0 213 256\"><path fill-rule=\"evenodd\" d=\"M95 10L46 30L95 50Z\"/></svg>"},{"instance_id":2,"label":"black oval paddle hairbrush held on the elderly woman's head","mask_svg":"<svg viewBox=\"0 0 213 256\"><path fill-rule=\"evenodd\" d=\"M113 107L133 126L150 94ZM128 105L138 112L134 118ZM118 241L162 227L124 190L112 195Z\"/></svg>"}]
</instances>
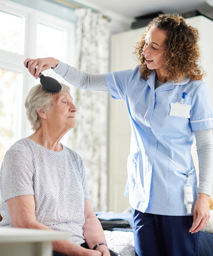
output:
<instances>
[{"instance_id":1,"label":"black oval paddle hairbrush held on the elderly woman's head","mask_svg":"<svg viewBox=\"0 0 213 256\"><path fill-rule=\"evenodd\" d=\"M27 62L26 68L28 68L28 62ZM36 68L35 68L35 71L36 71ZM43 89L47 93L51 95L59 94L59 92L61 91L61 85L56 79L52 77L45 77L42 73L40 73L38 77L40 78L40 82Z\"/></svg>"}]
</instances>

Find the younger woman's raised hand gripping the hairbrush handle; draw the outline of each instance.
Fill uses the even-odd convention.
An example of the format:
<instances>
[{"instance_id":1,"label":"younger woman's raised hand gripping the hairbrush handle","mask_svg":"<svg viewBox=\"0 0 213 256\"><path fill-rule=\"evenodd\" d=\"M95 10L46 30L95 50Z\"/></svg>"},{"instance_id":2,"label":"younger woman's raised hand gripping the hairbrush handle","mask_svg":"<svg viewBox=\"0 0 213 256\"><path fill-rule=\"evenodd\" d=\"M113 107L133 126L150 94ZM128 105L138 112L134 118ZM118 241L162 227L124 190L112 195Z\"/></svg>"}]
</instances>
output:
<instances>
[{"instance_id":1,"label":"younger woman's raised hand gripping the hairbrush handle","mask_svg":"<svg viewBox=\"0 0 213 256\"><path fill-rule=\"evenodd\" d=\"M55 68L59 61L54 58L41 58L41 59L29 59L27 58L24 61L24 66L27 66L28 62L28 70L31 75L33 75L36 79L38 78L39 73L41 73L43 70L47 70L50 68ZM35 72L35 68L37 69Z\"/></svg>"}]
</instances>

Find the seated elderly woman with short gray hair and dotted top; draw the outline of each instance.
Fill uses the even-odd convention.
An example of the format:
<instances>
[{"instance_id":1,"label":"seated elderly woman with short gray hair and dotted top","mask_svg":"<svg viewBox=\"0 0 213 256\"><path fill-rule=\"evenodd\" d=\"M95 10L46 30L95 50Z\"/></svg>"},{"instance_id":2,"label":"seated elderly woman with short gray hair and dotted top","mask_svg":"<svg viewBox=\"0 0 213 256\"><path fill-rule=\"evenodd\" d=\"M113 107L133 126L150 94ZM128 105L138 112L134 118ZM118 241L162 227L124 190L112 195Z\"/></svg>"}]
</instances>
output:
<instances>
[{"instance_id":1,"label":"seated elderly woman with short gray hair and dotted top","mask_svg":"<svg viewBox=\"0 0 213 256\"><path fill-rule=\"evenodd\" d=\"M61 86L58 95L41 84L28 93L25 107L35 132L15 142L4 157L0 227L69 232L69 239L52 243L54 255L110 256L91 207L83 160L60 143L75 127L77 111L69 87Z\"/></svg>"}]
</instances>

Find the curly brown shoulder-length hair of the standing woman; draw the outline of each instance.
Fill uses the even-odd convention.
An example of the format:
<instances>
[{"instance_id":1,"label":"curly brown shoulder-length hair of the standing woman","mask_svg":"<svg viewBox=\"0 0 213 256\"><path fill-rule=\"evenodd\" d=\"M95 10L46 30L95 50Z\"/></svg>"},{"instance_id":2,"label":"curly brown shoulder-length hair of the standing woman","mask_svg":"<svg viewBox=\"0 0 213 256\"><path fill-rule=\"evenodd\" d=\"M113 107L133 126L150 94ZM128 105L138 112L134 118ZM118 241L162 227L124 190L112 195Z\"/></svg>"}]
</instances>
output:
<instances>
[{"instance_id":1,"label":"curly brown shoulder-length hair of the standing woman","mask_svg":"<svg viewBox=\"0 0 213 256\"><path fill-rule=\"evenodd\" d=\"M155 26L166 32L165 52L162 62L165 65L165 77L167 81L183 81L185 78L191 80L202 80L201 69L198 65L200 53L197 41L199 32L197 29L186 24L185 19L178 13L159 14L146 27L140 41L136 43L135 54L138 58L141 78L148 78L151 70L147 68L143 48L148 30Z\"/></svg>"}]
</instances>

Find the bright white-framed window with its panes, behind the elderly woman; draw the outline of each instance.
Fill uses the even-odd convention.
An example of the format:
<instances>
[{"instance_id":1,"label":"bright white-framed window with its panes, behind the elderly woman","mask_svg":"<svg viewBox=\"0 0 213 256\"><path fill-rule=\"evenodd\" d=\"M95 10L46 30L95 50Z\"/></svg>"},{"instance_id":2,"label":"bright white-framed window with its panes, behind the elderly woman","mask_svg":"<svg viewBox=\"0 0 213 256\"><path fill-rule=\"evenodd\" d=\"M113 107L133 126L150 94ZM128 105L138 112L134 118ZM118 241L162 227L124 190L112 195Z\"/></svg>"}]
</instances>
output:
<instances>
[{"instance_id":1,"label":"bright white-framed window with its panes, behind the elderly woman","mask_svg":"<svg viewBox=\"0 0 213 256\"><path fill-rule=\"evenodd\" d=\"M44 12L0 0L0 165L6 150L21 137L32 134L24 101L39 83L23 62L26 58L55 57L73 64L75 23ZM53 70L44 75L64 82ZM67 83L67 82L66 82Z\"/></svg>"}]
</instances>

